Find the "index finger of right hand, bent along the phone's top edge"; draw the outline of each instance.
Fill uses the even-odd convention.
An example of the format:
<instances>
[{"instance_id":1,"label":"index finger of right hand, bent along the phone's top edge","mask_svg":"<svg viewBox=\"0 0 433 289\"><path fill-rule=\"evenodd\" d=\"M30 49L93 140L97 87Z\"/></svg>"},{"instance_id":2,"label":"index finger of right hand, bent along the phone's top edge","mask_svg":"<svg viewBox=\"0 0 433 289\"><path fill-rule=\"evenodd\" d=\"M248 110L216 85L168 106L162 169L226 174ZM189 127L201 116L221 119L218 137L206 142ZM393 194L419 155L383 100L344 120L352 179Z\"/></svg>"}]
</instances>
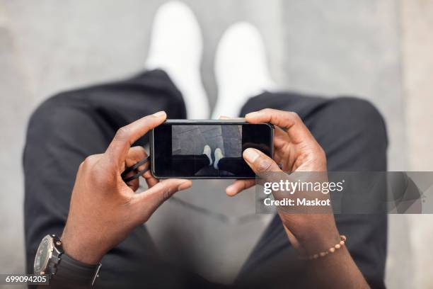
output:
<instances>
[{"instance_id":1,"label":"index finger of right hand, bent along the phone's top edge","mask_svg":"<svg viewBox=\"0 0 433 289\"><path fill-rule=\"evenodd\" d=\"M248 123L272 123L287 130L292 142L299 143L306 140L314 140L304 122L294 112L278 111L272 108L265 108L261 111L248 113L245 116ZM315 140L314 140L315 141Z\"/></svg>"}]
</instances>

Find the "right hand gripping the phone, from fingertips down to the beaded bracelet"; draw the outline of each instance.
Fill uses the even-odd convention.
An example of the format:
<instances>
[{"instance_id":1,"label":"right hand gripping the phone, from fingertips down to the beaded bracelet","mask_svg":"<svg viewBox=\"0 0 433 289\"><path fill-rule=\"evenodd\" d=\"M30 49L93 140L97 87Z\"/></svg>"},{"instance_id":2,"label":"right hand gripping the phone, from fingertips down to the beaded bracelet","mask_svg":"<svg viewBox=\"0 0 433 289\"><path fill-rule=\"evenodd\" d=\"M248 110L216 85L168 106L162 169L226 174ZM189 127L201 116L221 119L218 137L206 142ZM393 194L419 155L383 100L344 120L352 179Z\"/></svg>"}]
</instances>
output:
<instances>
[{"instance_id":1,"label":"right hand gripping the phone, from fingertips down to the beaded bracelet","mask_svg":"<svg viewBox=\"0 0 433 289\"><path fill-rule=\"evenodd\" d=\"M270 171L320 172L317 175L321 176L321 181L328 181L325 152L296 113L266 108L248 113L245 119L248 123L275 125L273 159L258 149L248 148L243 152L243 158L255 174L267 179L270 175L266 173ZM282 175L284 174L278 174ZM254 185L254 179L238 180L226 188L226 193L235 196ZM323 246L326 248L340 242L332 212L295 214L279 210L279 216L291 244L304 251L304 254L316 253L323 249Z\"/></svg>"}]
</instances>

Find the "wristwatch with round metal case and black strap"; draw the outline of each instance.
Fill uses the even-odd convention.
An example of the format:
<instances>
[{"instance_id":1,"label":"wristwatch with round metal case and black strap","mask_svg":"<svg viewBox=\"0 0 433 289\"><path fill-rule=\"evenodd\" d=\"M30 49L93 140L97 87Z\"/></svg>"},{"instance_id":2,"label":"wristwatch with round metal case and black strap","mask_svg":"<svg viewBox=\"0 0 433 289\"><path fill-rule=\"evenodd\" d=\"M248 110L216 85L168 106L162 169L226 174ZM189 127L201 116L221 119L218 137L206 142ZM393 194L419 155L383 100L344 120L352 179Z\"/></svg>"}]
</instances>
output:
<instances>
[{"instance_id":1,"label":"wristwatch with round metal case and black strap","mask_svg":"<svg viewBox=\"0 0 433 289\"><path fill-rule=\"evenodd\" d=\"M62 247L62 241L56 235L47 235L37 248L34 273L50 276L55 283L74 283L93 285L101 263L88 265L68 256Z\"/></svg>"}]
</instances>

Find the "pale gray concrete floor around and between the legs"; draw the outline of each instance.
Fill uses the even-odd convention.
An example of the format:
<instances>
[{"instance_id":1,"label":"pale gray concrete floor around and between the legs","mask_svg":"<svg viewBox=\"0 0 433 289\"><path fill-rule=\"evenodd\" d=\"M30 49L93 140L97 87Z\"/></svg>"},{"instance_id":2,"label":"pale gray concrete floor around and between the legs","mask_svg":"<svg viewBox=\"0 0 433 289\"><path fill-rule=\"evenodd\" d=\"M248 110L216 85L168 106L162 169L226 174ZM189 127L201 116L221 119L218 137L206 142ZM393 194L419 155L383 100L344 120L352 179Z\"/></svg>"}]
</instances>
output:
<instances>
[{"instance_id":1,"label":"pale gray concrete floor around and between the legs","mask_svg":"<svg viewBox=\"0 0 433 289\"><path fill-rule=\"evenodd\" d=\"M285 89L329 97L354 95L386 118L390 170L432 170L433 3L425 0L187 0L202 26L202 79L213 106L217 42L234 21L250 21L267 44L272 76ZM28 117L65 89L127 77L143 68L151 21L163 0L0 0L0 271L23 270L21 151ZM168 202L149 229L161 248L183 227L194 244L192 267L229 282L266 217L238 223L254 211L253 193L229 199L219 181L200 181L181 200L212 209L206 215ZM167 215L173 224L163 222ZM219 216L219 217L215 217ZM387 283L433 286L432 217L391 216ZM242 240L239 242L238 240ZM427 240L427 241L426 241ZM219 270L214 270L219 268Z\"/></svg>"}]
</instances>

